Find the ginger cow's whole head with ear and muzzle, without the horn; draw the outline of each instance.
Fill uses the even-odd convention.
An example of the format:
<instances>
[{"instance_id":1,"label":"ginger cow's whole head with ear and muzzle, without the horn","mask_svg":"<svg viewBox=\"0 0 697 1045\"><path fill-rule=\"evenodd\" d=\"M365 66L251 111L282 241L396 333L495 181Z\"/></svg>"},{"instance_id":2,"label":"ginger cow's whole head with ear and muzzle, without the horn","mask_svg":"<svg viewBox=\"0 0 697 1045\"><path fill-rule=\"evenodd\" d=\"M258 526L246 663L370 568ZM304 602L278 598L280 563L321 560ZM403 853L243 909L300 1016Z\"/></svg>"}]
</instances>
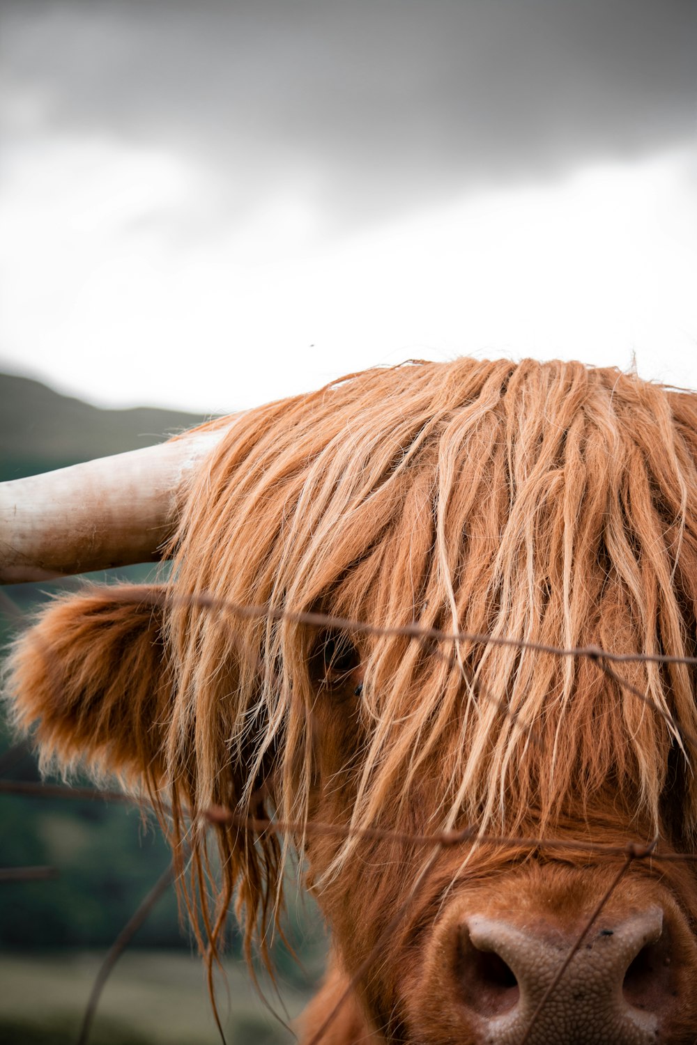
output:
<instances>
[{"instance_id":1,"label":"ginger cow's whole head with ear and muzzle, without the horn","mask_svg":"<svg viewBox=\"0 0 697 1045\"><path fill-rule=\"evenodd\" d=\"M461 359L217 432L171 582L50 608L19 722L176 843L193 815L200 864L230 811L213 935L302 850L334 943L308 1038L349 988L326 1042L694 1042L695 398Z\"/></svg>"}]
</instances>

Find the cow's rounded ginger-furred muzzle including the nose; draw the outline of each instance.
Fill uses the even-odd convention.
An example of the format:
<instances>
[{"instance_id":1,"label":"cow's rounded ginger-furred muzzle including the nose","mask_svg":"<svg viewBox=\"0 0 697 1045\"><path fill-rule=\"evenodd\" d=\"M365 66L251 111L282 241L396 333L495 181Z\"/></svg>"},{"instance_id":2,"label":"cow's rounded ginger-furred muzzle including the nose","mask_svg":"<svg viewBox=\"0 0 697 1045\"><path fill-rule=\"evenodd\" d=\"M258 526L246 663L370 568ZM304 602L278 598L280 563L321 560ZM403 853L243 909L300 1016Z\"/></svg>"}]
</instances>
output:
<instances>
[{"instance_id":1,"label":"cow's rounded ginger-furred muzzle including the nose","mask_svg":"<svg viewBox=\"0 0 697 1045\"><path fill-rule=\"evenodd\" d=\"M608 875L531 865L452 897L408 959L408 1040L695 1045L697 939L684 908L637 875L597 913Z\"/></svg>"}]
</instances>

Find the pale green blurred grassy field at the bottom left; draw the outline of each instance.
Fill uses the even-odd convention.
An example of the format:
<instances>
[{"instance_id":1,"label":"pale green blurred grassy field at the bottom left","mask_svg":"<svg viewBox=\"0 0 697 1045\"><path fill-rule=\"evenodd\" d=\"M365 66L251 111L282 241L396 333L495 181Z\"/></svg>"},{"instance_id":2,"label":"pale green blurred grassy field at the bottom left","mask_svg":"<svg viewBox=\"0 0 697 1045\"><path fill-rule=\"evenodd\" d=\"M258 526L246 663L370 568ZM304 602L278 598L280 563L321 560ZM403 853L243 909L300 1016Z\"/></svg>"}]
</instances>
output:
<instances>
[{"instance_id":1,"label":"pale green blurred grassy field at the bottom left","mask_svg":"<svg viewBox=\"0 0 697 1045\"><path fill-rule=\"evenodd\" d=\"M102 954L0 953L0 1045L74 1045ZM228 1045L284 1045L294 1036L265 1008L241 963L218 977ZM273 1011L295 1019L311 990L266 984ZM285 1013L284 1013L285 1008ZM90 1045L219 1045L201 960L181 951L131 951L99 1003Z\"/></svg>"}]
</instances>

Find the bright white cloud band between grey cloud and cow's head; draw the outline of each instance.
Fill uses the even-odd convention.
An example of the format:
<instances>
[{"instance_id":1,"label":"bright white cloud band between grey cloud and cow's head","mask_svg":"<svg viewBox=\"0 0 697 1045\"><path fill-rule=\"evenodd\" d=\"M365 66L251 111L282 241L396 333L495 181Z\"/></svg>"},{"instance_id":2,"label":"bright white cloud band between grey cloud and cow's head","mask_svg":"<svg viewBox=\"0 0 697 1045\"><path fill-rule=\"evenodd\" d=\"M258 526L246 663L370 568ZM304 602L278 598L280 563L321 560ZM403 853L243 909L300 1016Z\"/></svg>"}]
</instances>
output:
<instances>
[{"instance_id":1,"label":"bright white cloud band between grey cloud and cow's head","mask_svg":"<svg viewBox=\"0 0 697 1045\"><path fill-rule=\"evenodd\" d=\"M176 156L24 148L0 207L3 361L100 403L204 411L459 352L635 353L697 387L695 165L594 166L332 239L309 180L196 232L208 184Z\"/></svg>"}]
</instances>

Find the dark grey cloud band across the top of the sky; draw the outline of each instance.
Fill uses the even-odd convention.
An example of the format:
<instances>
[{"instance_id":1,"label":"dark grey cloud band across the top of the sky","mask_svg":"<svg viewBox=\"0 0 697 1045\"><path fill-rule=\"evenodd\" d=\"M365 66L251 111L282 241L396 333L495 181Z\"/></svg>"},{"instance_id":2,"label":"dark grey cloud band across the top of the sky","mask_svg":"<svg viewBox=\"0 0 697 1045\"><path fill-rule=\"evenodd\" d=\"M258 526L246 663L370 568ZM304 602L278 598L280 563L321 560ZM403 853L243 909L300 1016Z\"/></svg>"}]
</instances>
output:
<instances>
[{"instance_id":1,"label":"dark grey cloud band across the top of the sky","mask_svg":"<svg viewBox=\"0 0 697 1045\"><path fill-rule=\"evenodd\" d=\"M5 0L4 91L338 219L683 143L691 0Z\"/></svg>"}]
</instances>

